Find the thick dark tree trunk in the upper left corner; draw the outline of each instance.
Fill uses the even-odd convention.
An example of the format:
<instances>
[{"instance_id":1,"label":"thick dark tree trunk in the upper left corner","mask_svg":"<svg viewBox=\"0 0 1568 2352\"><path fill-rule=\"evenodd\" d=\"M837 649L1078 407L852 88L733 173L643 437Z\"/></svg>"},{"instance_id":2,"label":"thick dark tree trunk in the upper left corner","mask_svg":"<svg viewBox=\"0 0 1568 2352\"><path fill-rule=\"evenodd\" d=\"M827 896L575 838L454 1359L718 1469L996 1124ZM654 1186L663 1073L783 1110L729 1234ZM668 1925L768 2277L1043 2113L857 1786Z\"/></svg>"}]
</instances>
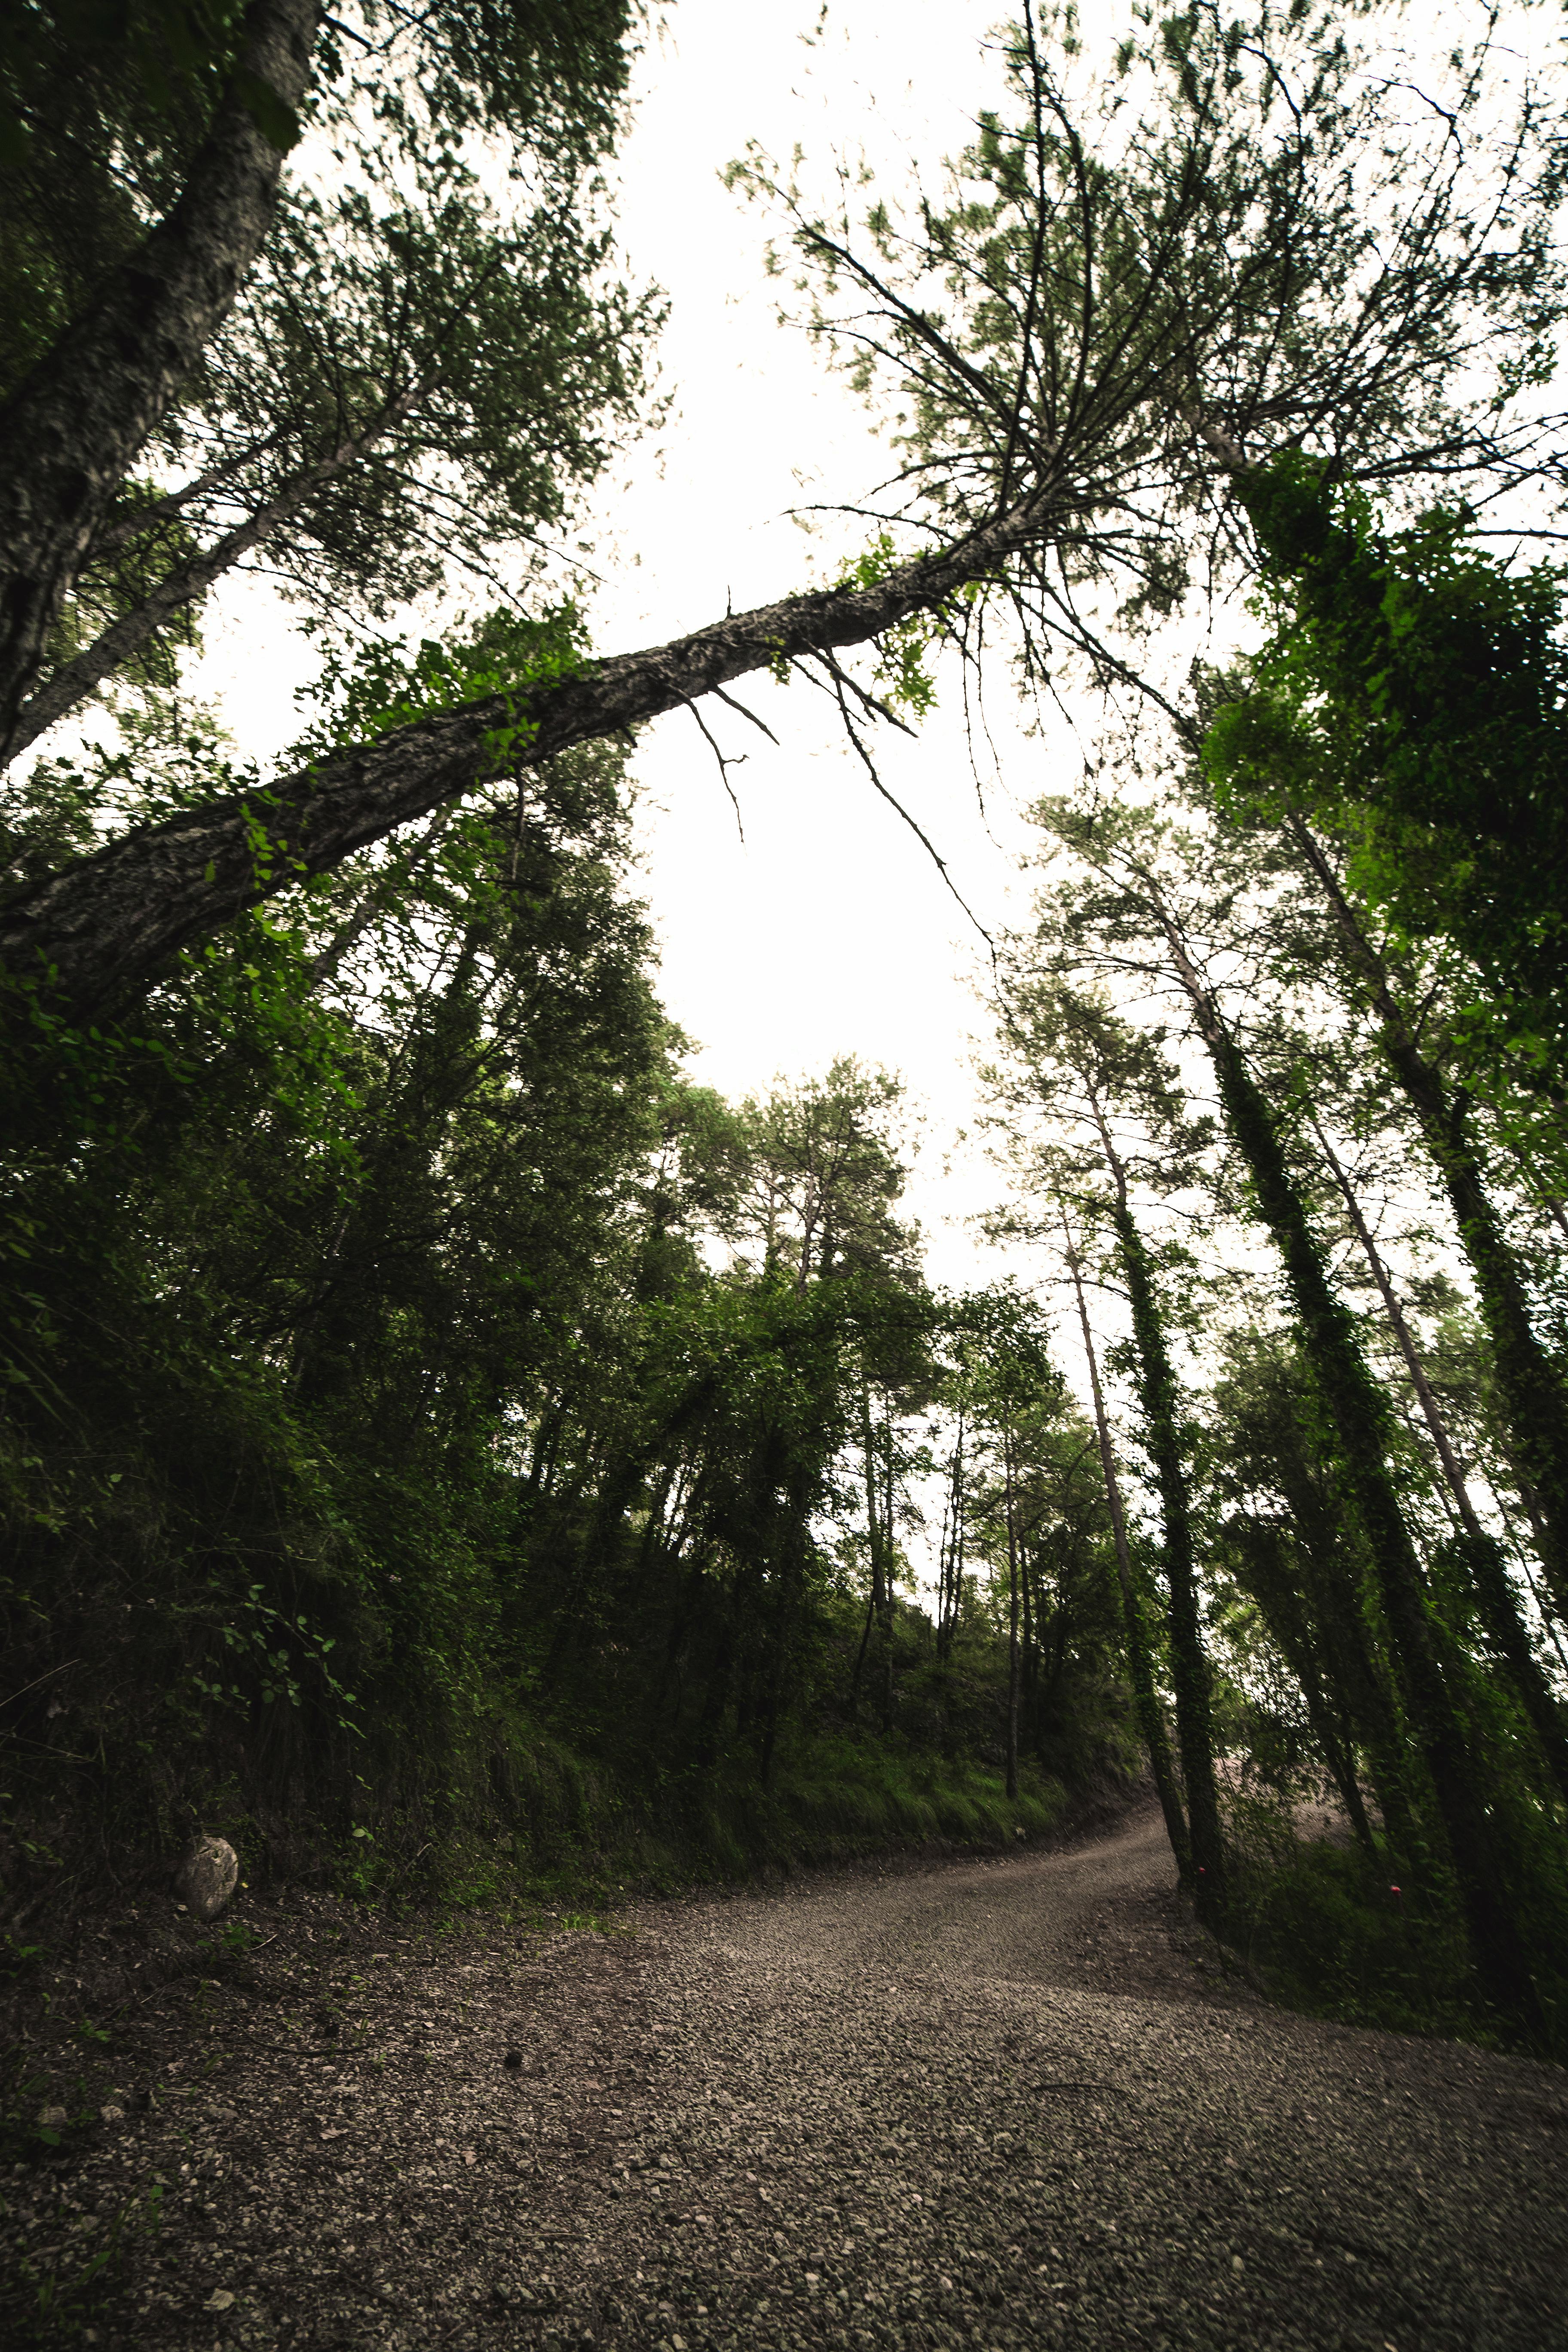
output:
<instances>
[{"instance_id":1,"label":"thick dark tree trunk in the upper left corner","mask_svg":"<svg viewBox=\"0 0 1568 2352\"><path fill-rule=\"evenodd\" d=\"M282 151L254 115L294 108L320 0L252 0L240 59L174 209L0 412L0 746L136 452L228 318L273 221Z\"/></svg>"}]
</instances>

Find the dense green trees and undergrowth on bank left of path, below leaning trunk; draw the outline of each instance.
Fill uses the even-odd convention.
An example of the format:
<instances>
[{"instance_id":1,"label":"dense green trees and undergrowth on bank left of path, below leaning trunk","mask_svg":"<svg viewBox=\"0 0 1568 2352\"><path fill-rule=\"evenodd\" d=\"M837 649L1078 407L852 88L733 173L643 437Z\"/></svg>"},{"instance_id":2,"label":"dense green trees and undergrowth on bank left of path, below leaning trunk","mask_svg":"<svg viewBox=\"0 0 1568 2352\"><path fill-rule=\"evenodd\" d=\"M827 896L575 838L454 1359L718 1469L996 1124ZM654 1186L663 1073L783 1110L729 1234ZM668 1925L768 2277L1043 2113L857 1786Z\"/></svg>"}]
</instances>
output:
<instances>
[{"instance_id":1,"label":"dense green trees and undergrowth on bank left of path, below leaning trunk","mask_svg":"<svg viewBox=\"0 0 1568 2352\"><path fill-rule=\"evenodd\" d=\"M362 739L578 659L569 612L491 621L343 663L320 724ZM14 856L183 807L228 757L181 715L45 767ZM1018 1804L997 1623L971 1606L938 1661L896 1597L940 1322L896 1080L689 1087L621 755L491 793L233 924L118 1030L31 997L12 1028L12 1903L66 1905L94 1856L150 1867L202 1818L252 1882L581 1907L632 1875L1001 1839L1121 1757L1093 1557L1056 1559L1048 1484Z\"/></svg>"}]
</instances>

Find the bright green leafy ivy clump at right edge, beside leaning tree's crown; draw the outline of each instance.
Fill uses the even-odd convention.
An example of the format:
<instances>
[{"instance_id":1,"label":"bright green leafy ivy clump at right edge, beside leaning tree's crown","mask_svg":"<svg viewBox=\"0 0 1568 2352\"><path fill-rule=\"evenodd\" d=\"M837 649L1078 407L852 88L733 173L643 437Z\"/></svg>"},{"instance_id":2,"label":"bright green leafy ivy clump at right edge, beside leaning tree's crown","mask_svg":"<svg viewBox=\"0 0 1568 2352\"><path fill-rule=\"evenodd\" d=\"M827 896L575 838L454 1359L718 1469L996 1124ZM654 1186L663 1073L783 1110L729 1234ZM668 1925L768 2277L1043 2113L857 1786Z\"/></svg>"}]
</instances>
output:
<instances>
[{"instance_id":1,"label":"bright green leafy ivy clump at right edge, beside leaning tree's crown","mask_svg":"<svg viewBox=\"0 0 1568 2352\"><path fill-rule=\"evenodd\" d=\"M1237 496L1274 630L1206 736L1220 804L1340 837L1349 887L1448 946L1469 1028L1537 1075L1568 1037L1561 567L1512 569L1462 508L1380 529L1298 452Z\"/></svg>"}]
</instances>

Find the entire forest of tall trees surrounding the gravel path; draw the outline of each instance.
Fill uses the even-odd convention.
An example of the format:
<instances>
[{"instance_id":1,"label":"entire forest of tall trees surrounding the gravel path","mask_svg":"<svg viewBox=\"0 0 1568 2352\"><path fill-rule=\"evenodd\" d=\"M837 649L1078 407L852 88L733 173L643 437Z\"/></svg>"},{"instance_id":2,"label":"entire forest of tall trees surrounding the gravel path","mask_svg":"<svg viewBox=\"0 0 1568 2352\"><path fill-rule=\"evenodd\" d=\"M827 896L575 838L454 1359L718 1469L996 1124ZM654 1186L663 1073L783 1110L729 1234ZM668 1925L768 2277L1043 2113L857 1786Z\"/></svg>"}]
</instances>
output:
<instances>
[{"instance_id":1,"label":"entire forest of tall trees surrounding the gravel path","mask_svg":"<svg viewBox=\"0 0 1568 2352\"><path fill-rule=\"evenodd\" d=\"M475 1900L1147 1783L1291 1997L1561 2053L1568 111L1389 24L1025 12L907 200L745 151L889 480L832 586L614 652L639 16L7 19L14 1936L193 1828ZM275 769L183 682L247 569ZM637 731L748 673L889 826L938 699L1072 710L976 953L987 1287L853 1037L724 1101L661 1004Z\"/></svg>"}]
</instances>

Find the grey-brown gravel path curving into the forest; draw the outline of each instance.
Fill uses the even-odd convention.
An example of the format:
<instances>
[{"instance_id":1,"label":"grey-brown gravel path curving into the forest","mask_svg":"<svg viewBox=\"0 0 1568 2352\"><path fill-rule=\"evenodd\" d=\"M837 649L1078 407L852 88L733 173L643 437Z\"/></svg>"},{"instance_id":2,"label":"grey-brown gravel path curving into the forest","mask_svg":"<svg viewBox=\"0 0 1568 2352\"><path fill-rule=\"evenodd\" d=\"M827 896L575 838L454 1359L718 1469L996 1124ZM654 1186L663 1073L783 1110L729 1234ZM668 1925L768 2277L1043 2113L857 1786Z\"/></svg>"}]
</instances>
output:
<instances>
[{"instance_id":1,"label":"grey-brown gravel path curving into the forest","mask_svg":"<svg viewBox=\"0 0 1568 2352\"><path fill-rule=\"evenodd\" d=\"M266 1933L9 2176L35 2281L127 2216L85 2340L1568 2345L1563 2077L1269 2009L1147 1813L614 1936Z\"/></svg>"}]
</instances>

